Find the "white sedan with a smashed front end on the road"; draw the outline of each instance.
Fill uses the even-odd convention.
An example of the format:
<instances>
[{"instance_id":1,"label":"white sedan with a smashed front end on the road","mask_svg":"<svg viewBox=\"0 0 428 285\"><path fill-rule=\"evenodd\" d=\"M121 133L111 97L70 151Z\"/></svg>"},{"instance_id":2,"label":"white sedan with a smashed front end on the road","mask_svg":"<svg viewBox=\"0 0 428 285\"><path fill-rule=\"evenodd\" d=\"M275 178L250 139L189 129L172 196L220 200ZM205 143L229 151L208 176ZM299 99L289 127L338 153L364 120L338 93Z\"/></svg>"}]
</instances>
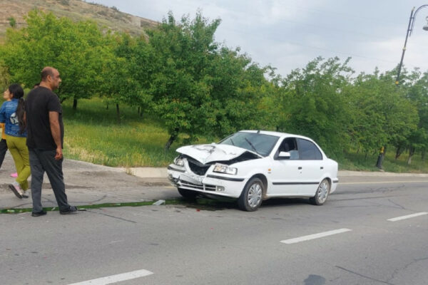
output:
<instances>
[{"instance_id":1,"label":"white sedan with a smashed front end on the road","mask_svg":"<svg viewBox=\"0 0 428 285\"><path fill-rule=\"evenodd\" d=\"M245 211L274 197L308 197L321 205L339 182L337 162L301 135L242 130L218 143L177 152L168 178L180 195L238 198Z\"/></svg>"}]
</instances>

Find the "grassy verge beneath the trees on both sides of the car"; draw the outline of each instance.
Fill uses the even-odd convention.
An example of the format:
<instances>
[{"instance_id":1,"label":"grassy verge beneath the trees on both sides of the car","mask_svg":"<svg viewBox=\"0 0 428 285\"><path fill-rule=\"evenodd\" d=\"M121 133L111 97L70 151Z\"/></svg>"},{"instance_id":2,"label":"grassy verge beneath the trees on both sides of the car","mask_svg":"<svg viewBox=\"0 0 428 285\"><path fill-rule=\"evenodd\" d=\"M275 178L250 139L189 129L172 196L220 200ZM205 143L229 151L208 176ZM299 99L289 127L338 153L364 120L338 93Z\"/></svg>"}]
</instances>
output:
<instances>
[{"instance_id":1,"label":"grassy verge beneath the trees on both sides of the car","mask_svg":"<svg viewBox=\"0 0 428 285\"><path fill-rule=\"evenodd\" d=\"M174 142L170 150L163 146L168 140L165 127L158 120L140 117L136 108L121 105L121 124L117 123L116 107L106 109L102 100L79 100L78 108L73 111L71 100L63 103L64 125L66 128L66 157L93 162L99 165L122 167L165 167L177 155L175 149L180 142ZM200 138L198 143L206 143ZM383 166L387 172L428 172L427 161L419 154L414 155L412 164L407 165L407 154L403 153L394 160L389 149ZM377 155L355 152L345 153L337 159L340 170L378 171L374 167Z\"/></svg>"}]
</instances>

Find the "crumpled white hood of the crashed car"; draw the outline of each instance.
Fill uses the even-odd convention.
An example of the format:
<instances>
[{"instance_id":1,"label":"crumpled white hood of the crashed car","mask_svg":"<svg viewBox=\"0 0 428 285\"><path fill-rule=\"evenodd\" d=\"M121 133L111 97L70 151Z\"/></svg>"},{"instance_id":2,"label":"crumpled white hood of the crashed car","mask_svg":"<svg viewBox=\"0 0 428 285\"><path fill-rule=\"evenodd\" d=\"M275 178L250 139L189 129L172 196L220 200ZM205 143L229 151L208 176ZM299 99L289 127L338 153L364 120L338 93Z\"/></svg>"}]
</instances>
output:
<instances>
[{"instance_id":1,"label":"crumpled white hood of the crashed car","mask_svg":"<svg viewBox=\"0 0 428 285\"><path fill-rule=\"evenodd\" d=\"M204 165L209 162L233 160L233 158L242 155L244 152L250 152L257 155L255 152L246 150L242 147L233 145L187 145L178 147L177 152L188 155ZM260 157L260 155L257 155Z\"/></svg>"}]
</instances>

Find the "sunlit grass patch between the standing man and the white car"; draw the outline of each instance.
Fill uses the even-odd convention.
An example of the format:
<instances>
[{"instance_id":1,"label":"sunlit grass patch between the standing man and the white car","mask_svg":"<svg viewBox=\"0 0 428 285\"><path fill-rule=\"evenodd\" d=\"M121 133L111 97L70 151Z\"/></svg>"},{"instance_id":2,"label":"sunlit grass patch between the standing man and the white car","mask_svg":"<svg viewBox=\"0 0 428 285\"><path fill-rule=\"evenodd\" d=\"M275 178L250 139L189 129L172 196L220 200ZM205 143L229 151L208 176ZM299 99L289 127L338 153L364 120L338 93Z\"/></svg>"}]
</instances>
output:
<instances>
[{"instance_id":1,"label":"sunlit grass patch between the standing man and the white car","mask_svg":"<svg viewBox=\"0 0 428 285\"><path fill-rule=\"evenodd\" d=\"M175 142L169 151L163 147L169 136L161 123L141 118L136 108L121 105L121 124L116 107L99 99L79 100L73 111L63 103L65 128L64 155L99 165L137 167L168 165L176 156Z\"/></svg>"}]
</instances>

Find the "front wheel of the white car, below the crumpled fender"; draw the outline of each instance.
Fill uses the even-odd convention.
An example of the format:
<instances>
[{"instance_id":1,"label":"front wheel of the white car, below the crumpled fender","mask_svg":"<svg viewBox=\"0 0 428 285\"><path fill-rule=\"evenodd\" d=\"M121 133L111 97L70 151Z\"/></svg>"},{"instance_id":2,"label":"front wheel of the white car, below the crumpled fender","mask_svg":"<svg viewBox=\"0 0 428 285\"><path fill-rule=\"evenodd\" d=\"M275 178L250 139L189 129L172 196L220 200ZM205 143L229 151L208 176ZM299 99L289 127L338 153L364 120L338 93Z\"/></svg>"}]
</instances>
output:
<instances>
[{"instance_id":1,"label":"front wheel of the white car, below the crumpled fender","mask_svg":"<svg viewBox=\"0 0 428 285\"><path fill-rule=\"evenodd\" d=\"M253 212L258 209L260 204L262 204L264 187L262 180L258 178L250 179L238 199L238 206L240 209L248 212Z\"/></svg>"}]
</instances>

